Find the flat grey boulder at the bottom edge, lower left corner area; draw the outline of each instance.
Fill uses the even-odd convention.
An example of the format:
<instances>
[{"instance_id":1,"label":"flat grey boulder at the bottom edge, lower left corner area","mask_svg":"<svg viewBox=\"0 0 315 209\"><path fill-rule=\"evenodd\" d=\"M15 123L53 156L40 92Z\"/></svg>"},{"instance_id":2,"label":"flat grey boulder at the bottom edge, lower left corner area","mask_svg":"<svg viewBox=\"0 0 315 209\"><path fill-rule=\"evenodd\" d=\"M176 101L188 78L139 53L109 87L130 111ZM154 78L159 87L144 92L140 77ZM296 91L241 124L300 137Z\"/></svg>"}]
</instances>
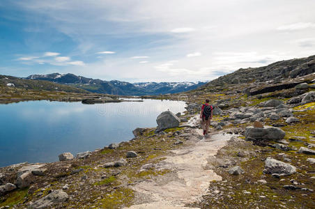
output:
<instances>
[{"instance_id":1,"label":"flat grey boulder at the bottom edge, lower left corner area","mask_svg":"<svg viewBox=\"0 0 315 209\"><path fill-rule=\"evenodd\" d=\"M56 190L47 196L44 196L42 199L34 202L29 206L32 209L42 209L42 208L52 208L54 203L62 203L68 199L68 194L63 192L62 189Z\"/></svg>"}]
</instances>

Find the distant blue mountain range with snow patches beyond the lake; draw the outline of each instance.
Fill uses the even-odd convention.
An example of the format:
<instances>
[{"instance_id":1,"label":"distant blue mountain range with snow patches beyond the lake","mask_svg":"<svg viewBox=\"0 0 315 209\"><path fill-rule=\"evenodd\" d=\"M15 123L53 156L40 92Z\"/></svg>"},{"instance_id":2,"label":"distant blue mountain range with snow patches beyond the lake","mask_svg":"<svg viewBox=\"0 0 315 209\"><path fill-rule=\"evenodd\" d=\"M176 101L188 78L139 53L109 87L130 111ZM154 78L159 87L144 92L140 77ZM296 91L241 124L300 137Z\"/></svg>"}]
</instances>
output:
<instances>
[{"instance_id":1,"label":"distant blue mountain range with snow patches beyond the lake","mask_svg":"<svg viewBox=\"0 0 315 209\"><path fill-rule=\"evenodd\" d=\"M206 82L140 82L128 83L117 80L103 81L101 79L91 79L71 73L52 73L48 75L30 75L25 79L44 80L56 84L66 84L68 86L82 88L94 93L107 93L113 95L159 95L167 93L180 93L190 91L206 84Z\"/></svg>"}]
</instances>

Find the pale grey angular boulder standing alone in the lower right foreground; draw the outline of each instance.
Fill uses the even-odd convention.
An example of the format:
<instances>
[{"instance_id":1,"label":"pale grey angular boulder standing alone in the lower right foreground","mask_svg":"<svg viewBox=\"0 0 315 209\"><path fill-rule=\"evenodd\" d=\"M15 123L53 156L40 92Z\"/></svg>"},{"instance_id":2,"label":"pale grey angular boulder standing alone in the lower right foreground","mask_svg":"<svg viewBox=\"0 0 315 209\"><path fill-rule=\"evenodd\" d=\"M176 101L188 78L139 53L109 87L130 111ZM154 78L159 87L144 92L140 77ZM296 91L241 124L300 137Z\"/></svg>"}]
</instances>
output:
<instances>
[{"instance_id":1,"label":"pale grey angular boulder standing alone in the lower right foreground","mask_svg":"<svg viewBox=\"0 0 315 209\"><path fill-rule=\"evenodd\" d=\"M277 173L282 176L291 175L296 172L296 168L293 167L291 164L275 160L272 157L268 157L265 162L265 169L263 173Z\"/></svg>"}]
</instances>

